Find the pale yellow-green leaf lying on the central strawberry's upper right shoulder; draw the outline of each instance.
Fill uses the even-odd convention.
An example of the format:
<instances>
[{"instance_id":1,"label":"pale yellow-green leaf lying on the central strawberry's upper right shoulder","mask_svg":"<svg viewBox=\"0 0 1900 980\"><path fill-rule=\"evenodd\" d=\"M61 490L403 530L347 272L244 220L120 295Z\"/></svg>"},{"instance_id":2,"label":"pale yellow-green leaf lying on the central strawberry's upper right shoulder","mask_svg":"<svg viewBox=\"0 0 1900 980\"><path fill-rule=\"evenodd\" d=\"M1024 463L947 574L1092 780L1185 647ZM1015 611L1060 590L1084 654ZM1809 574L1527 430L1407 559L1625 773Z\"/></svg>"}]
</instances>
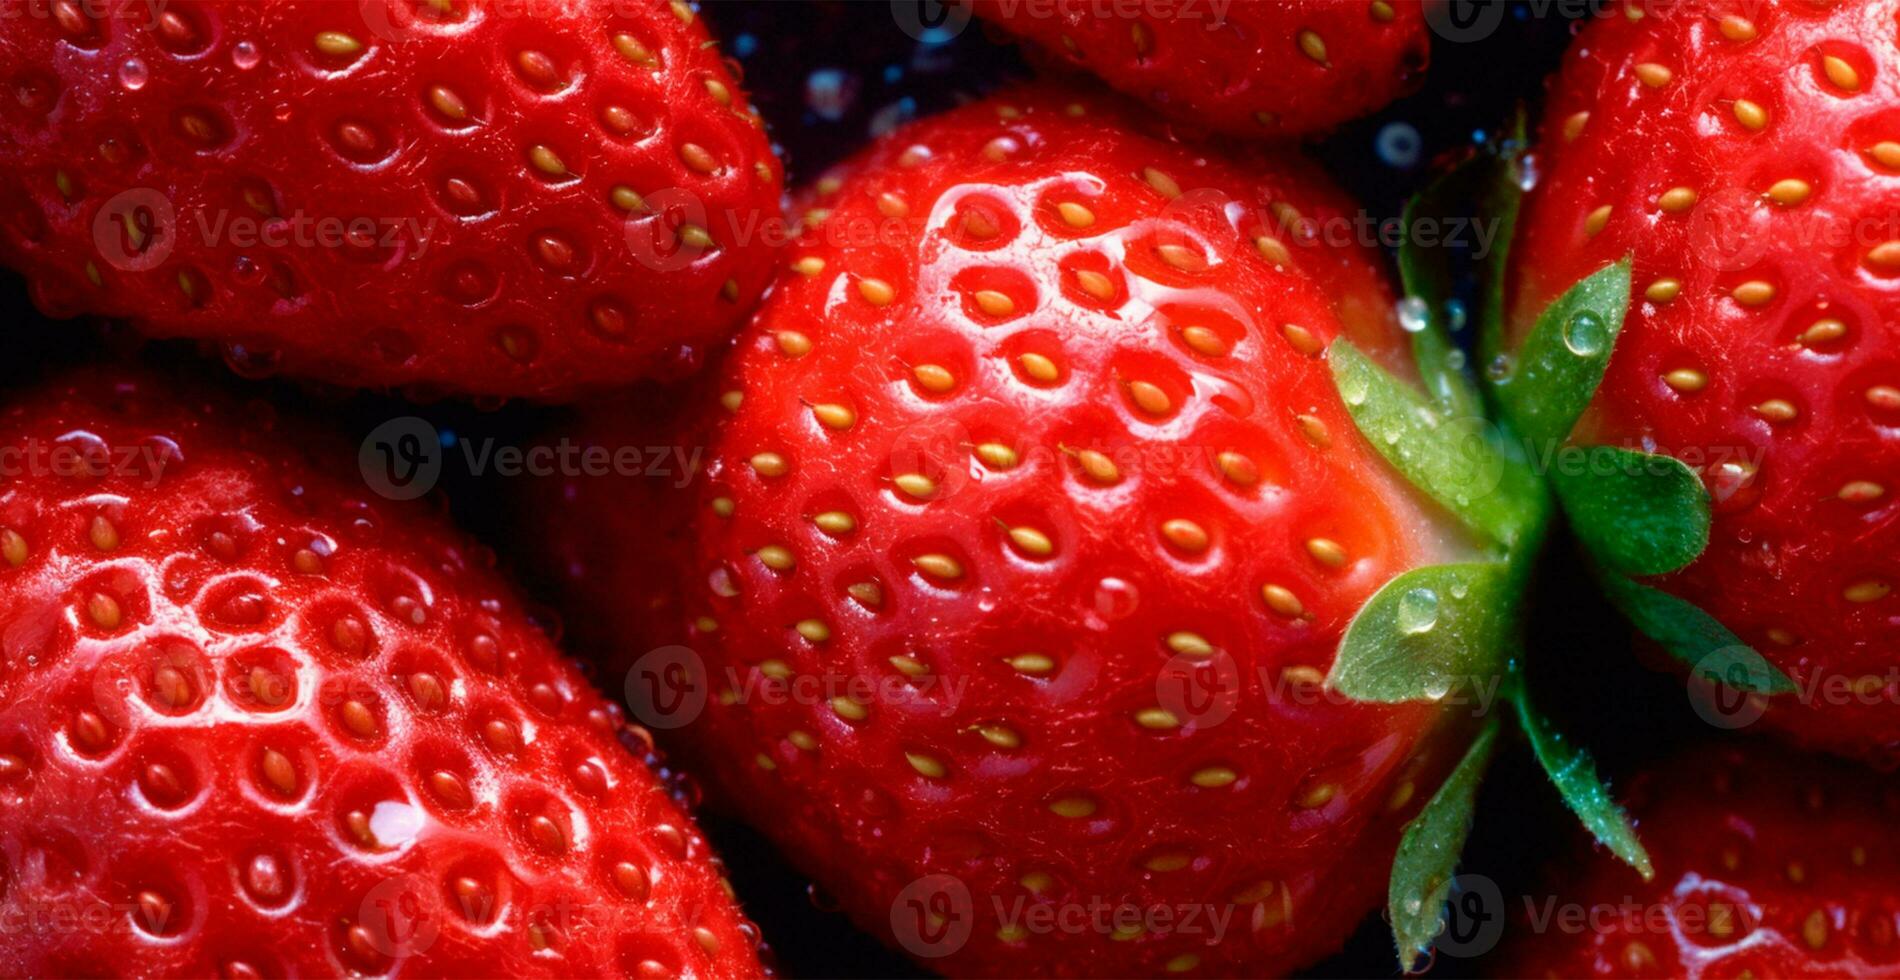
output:
<instances>
[{"instance_id":1,"label":"pale yellow-green leaf lying on the central strawberry's upper right shoulder","mask_svg":"<svg viewBox=\"0 0 1900 980\"><path fill-rule=\"evenodd\" d=\"M1482 416L1446 418L1349 340L1332 344L1332 378L1358 431L1414 486L1478 534L1512 543L1531 520L1531 475L1501 450Z\"/></svg>"}]
</instances>

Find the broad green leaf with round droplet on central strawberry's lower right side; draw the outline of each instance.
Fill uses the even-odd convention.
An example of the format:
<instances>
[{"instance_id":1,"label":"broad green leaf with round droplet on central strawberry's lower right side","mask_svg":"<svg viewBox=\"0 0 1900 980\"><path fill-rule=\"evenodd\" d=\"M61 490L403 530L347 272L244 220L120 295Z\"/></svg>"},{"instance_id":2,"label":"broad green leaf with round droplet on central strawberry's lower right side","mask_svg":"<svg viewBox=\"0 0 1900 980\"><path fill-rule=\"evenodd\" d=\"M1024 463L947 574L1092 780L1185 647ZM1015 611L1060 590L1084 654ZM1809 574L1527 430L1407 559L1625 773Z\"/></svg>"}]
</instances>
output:
<instances>
[{"instance_id":1,"label":"broad green leaf with round droplet on central strawberry's lower right side","mask_svg":"<svg viewBox=\"0 0 1900 980\"><path fill-rule=\"evenodd\" d=\"M1514 610L1505 562L1414 568L1353 617L1326 686L1353 701L1442 701L1503 670Z\"/></svg>"}]
</instances>

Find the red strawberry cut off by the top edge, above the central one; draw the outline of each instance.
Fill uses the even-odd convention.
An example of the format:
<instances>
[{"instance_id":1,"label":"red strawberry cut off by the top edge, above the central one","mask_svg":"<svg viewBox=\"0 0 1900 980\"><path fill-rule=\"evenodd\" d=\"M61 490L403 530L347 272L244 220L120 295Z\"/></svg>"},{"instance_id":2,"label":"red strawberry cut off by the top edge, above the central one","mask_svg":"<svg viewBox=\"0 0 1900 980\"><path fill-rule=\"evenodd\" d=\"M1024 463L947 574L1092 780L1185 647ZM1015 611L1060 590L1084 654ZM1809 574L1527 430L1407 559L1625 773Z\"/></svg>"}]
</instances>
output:
<instances>
[{"instance_id":1,"label":"red strawberry cut off by the top edge, above the central one","mask_svg":"<svg viewBox=\"0 0 1900 980\"><path fill-rule=\"evenodd\" d=\"M1011 34L1165 116L1241 137L1298 137L1404 95L1431 59L1421 0L1140 6L975 0Z\"/></svg>"}]
</instances>

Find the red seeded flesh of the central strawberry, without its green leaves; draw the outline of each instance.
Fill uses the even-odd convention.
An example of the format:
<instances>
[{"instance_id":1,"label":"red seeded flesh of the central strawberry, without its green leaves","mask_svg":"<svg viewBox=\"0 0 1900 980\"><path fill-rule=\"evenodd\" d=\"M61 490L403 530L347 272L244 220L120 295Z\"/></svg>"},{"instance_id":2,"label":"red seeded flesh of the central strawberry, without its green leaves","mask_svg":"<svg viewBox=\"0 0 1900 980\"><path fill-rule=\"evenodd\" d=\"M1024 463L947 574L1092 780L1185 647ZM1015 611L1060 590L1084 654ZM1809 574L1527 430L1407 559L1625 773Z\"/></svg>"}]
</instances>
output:
<instances>
[{"instance_id":1,"label":"red seeded flesh of the central strawberry, without its green leaves","mask_svg":"<svg viewBox=\"0 0 1900 980\"><path fill-rule=\"evenodd\" d=\"M1351 209L1060 89L821 180L716 378L688 741L859 925L902 946L904 889L946 874L967 940L904 946L935 971L1220 976L1376 906L1459 726L1317 682L1378 587L1472 549L1334 389L1332 338L1404 349L1376 256L1298 237ZM1168 701L1170 663L1231 716ZM1009 912L1094 900L1229 931Z\"/></svg>"}]
</instances>

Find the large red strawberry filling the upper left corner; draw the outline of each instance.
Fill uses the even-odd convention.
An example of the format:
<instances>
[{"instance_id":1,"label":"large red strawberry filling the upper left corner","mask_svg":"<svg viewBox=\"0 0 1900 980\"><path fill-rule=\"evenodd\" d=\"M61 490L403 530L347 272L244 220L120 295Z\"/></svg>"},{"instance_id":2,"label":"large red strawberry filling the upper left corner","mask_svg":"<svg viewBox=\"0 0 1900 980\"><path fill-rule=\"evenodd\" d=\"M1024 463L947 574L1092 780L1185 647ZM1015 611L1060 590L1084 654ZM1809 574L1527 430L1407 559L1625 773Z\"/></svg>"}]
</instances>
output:
<instances>
[{"instance_id":1,"label":"large red strawberry filling the upper left corner","mask_svg":"<svg viewBox=\"0 0 1900 980\"><path fill-rule=\"evenodd\" d=\"M568 399L697 367L771 275L783 171L682 2L152 9L4 11L0 262L53 315Z\"/></svg>"}]
</instances>

